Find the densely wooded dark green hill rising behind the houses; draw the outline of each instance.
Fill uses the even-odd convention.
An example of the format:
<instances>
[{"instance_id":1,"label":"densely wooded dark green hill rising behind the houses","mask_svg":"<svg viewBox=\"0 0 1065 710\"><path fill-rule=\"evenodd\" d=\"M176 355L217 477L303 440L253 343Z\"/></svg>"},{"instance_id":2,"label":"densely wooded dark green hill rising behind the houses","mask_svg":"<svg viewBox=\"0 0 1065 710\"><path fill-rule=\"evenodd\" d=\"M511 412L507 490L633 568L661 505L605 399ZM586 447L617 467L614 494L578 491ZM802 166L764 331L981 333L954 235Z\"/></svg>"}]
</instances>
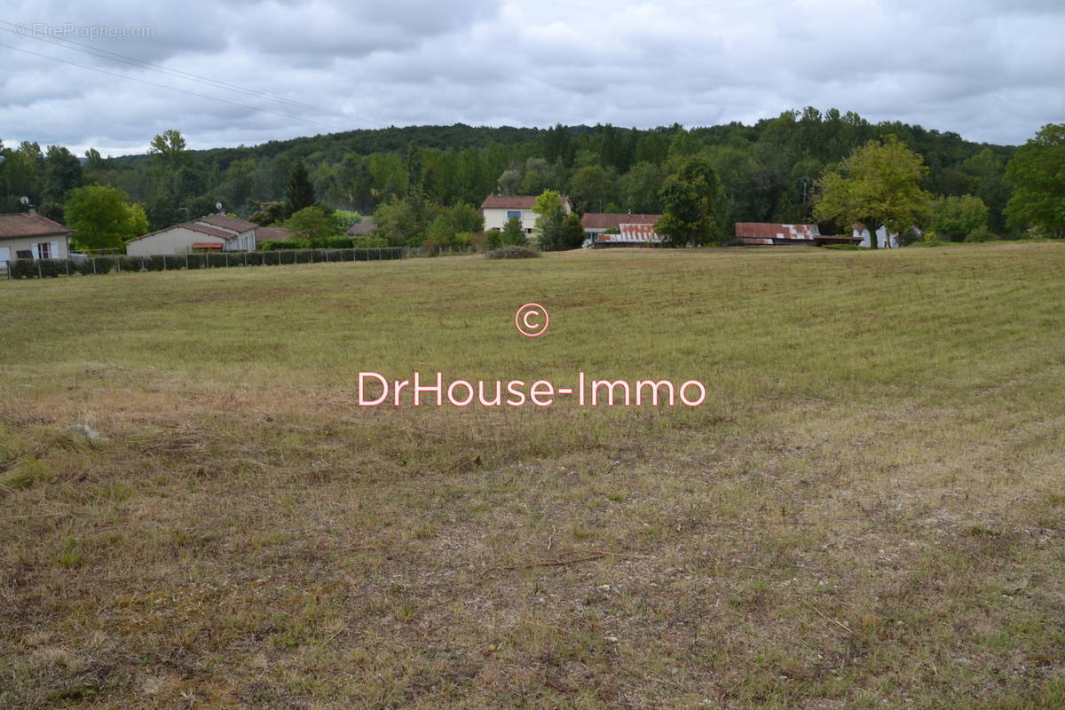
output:
<instances>
[{"instance_id":1,"label":"densely wooded dark green hill rising behind the houses","mask_svg":"<svg viewBox=\"0 0 1065 710\"><path fill-rule=\"evenodd\" d=\"M812 108L753 126L636 130L610 125L526 129L459 123L179 150L165 160L163 155L102 159L91 151L84 170L88 180L119 187L143 203L151 227L159 228L180 221L183 215L210 212L217 201L246 216L260 202L282 199L298 160L307 165L317 199L363 214L413 194L432 204L477 207L492 193L536 195L545 188L570 195L579 212L657 213L658 189L672 165L701 153L720 179L715 219L724 234L738 220L809 219L814 181L826 167L888 134L923 156L929 167L923 187L935 195L980 197L989 208L992 229L1003 229L1002 210L1010 197L1004 166L1015 148ZM32 152L34 147L23 144L6 152ZM54 212L62 202L50 196L62 191L54 185L49 191L47 156L36 150L39 176L23 176L26 184L15 177L10 194L29 194L45 211L51 200ZM7 167L12 171L16 166Z\"/></svg>"}]
</instances>

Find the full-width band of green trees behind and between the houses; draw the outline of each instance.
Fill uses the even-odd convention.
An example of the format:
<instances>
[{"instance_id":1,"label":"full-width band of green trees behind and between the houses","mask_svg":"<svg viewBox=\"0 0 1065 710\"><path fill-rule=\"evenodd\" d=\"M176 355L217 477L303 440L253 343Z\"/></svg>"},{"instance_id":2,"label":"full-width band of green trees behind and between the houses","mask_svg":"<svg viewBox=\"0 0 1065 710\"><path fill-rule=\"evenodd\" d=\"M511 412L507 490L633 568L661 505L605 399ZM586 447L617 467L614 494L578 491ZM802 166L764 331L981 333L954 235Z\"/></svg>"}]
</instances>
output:
<instances>
[{"instance_id":1,"label":"full-width band of green trees behind and between the houses","mask_svg":"<svg viewBox=\"0 0 1065 710\"><path fill-rule=\"evenodd\" d=\"M933 196L935 211L922 218L947 226L945 235L964 238L972 230L961 232L973 221L998 235L1036 226L1031 214L1007 210L1011 198L1023 194L1021 183L1031 171L1011 161L1023 158L1028 146L1018 151L814 108L753 126L456 125L211 150L190 150L171 130L154 136L148 154L120 158L102 158L95 149L78 158L61 146L42 150L30 142L0 143L0 212L17 211L24 195L42 213L69 222L66 211L76 191L108 187L111 207L104 211L125 213L113 220L112 233L161 229L213 212L222 202L231 214L273 224L309 207L327 217L334 211L373 214L379 237L390 244L449 244L479 231L476 208L487 195L554 191L568 195L578 213L667 214L674 219L669 229L689 242L695 234L700 242L727 241L735 221L804 222L818 216L829 222L822 232L849 233L842 213L815 213L817 199L825 180L857 150L889 136L919 156L917 186ZM1049 142L1045 151L1061 136L1041 133L1033 138L1039 141ZM285 199L295 174L306 182L297 209ZM85 202L84 191L81 196ZM96 193L96 201L103 196ZM115 207L116 197L124 208ZM78 203L72 207L77 212ZM688 218L682 218L684 210Z\"/></svg>"}]
</instances>

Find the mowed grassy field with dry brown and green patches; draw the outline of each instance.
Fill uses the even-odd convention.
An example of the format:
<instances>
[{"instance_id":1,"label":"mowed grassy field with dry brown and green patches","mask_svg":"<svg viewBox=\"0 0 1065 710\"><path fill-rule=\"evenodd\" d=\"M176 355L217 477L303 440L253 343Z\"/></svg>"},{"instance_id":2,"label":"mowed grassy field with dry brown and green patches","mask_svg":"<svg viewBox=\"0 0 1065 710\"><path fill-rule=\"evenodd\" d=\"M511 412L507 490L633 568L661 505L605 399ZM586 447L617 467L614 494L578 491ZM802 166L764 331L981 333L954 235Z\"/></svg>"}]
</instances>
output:
<instances>
[{"instance_id":1,"label":"mowed grassy field with dry brown and green patches","mask_svg":"<svg viewBox=\"0 0 1065 710\"><path fill-rule=\"evenodd\" d=\"M1065 707L1065 245L0 302L2 708ZM360 408L360 370L707 400Z\"/></svg>"}]
</instances>

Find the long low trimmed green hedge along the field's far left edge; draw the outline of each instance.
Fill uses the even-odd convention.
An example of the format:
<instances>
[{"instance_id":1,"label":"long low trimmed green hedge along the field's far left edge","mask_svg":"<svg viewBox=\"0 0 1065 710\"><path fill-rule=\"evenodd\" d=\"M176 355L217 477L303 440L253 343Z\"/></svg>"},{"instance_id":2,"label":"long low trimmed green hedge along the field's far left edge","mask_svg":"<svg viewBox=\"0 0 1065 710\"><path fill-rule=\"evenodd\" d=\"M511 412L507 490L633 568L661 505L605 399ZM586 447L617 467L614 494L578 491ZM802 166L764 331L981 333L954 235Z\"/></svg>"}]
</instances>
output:
<instances>
[{"instance_id":1,"label":"long low trimmed green hedge along the field's far left edge","mask_svg":"<svg viewBox=\"0 0 1065 710\"><path fill-rule=\"evenodd\" d=\"M87 257L85 259L18 259L9 264L13 279L36 279L111 271L174 271L183 268L275 266L338 261L403 259L400 247L379 249L301 249L292 251L230 251L222 253L157 254L153 257Z\"/></svg>"}]
</instances>

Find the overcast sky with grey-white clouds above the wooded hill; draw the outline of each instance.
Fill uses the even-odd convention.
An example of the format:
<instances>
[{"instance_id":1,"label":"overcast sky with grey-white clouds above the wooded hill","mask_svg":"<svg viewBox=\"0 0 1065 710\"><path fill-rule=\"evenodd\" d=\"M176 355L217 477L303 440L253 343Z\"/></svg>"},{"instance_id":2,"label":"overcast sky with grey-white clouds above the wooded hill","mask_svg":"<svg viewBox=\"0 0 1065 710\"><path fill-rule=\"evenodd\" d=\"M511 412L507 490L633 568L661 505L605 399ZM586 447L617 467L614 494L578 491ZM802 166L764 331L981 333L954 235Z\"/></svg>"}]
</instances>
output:
<instances>
[{"instance_id":1,"label":"overcast sky with grey-white clouds above the wooded hill","mask_svg":"<svg viewBox=\"0 0 1065 710\"><path fill-rule=\"evenodd\" d=\"M390 125L640 128L814 105L1019 144L1062 0L11 0L0 139L143 152ZM72 44L78 43L78 44ZM268 96L267 96L268 95Z\"/></svg>"}]
</instances>

